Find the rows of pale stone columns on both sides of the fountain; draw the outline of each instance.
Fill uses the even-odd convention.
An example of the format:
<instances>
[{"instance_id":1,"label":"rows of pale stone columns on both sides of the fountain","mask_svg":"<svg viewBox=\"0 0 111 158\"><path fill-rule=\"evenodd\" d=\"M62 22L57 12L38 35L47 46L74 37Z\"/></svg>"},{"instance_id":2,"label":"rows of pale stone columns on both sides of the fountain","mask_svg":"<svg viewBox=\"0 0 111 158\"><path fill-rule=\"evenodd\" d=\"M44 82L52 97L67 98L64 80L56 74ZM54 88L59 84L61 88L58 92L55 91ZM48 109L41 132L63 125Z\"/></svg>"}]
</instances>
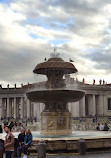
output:
<instances>
[{"instance_id":1,"label":"rows of pale stone columns on both sides of the fountain","mask_svg":"<svg viewBox=\"0 0 111 158\"><path fill-rule=\"evenodd\" d=\"M107 99L105 95L86 94L80 101L69 103L69 111L74 117L107 115ZM42 103L33 103L27 97L0 98L0 118L39 119L43 109Z\"/></svg>"}]
</instances>

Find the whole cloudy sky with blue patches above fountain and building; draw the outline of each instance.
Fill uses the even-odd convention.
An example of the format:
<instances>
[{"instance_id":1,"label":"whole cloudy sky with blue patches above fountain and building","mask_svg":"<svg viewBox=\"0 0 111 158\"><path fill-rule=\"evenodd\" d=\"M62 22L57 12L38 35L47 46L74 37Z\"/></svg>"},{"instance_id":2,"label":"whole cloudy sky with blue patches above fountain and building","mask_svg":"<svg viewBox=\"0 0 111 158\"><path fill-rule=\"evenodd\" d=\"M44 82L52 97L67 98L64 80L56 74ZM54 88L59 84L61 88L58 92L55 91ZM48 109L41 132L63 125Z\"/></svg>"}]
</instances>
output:
<instances>
[{"instance_id":1,"label":"whole cloudy sky with blue patches above fountain and building","mask_svg":"<svg viewBox=\"0 0 111 158\"><path fill-rule=\"evenodd\" d=\"M74 77L110 83L110 41L111 0L0 0L0 83L43 80L32 70L54 47Z\"/></svg>"}]
</instances>

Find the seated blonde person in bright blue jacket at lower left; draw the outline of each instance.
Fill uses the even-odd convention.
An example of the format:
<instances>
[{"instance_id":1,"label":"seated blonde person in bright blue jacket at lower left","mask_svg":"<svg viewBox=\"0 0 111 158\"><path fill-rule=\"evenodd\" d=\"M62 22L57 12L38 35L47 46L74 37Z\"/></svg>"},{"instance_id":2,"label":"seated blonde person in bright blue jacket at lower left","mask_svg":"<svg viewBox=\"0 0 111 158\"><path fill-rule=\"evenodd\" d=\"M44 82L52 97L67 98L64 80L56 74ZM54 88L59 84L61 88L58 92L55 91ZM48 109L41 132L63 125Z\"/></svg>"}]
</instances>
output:
<instances>
[{"instance_id":1,"label":"seated blonde person in bright blue jacket at lower left","mask_svg":"<svg viewBox=\"0 0 111 158\"><path fill-rule=\"evenodd\" d=\"M33 143L32 143L32 133L31 133L30 129L28 129L26 131L26 135L25 135L25 138L24 138L24 146L23 146L23 151L24 151L25 155L29 155L28 148L31 145L33 145Z\"/></svg>"}]
</instances>

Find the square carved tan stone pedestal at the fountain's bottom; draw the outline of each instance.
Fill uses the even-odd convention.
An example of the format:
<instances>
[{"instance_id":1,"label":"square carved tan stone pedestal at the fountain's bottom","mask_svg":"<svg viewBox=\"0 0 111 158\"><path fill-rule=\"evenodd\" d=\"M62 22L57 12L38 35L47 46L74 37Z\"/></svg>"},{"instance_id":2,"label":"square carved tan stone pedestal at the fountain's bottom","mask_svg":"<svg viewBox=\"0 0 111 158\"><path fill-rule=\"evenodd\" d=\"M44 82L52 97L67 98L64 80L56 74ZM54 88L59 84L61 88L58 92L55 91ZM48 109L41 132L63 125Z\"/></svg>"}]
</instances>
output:
<instances>
[{"instance_id":1,"label":"square carved tan stone pedestal at the fountain's bottom","mask_svg":"<svg viewBox=\"0 0 111 158\"><path fill-rule=\"evenodd\" d=\"M41 134L43 135L66 135L71 134L70 112L42 112Z\"/></svg>"}]
</instances>

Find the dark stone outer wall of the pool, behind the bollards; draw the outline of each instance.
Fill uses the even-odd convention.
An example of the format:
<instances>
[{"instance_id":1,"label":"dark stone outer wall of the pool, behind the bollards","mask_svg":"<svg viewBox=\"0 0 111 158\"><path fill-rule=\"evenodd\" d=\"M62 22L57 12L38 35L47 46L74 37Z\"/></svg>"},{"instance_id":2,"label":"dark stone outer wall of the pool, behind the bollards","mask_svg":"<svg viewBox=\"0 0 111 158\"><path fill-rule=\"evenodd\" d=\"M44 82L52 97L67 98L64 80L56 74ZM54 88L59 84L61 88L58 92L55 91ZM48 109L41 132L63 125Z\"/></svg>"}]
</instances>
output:
<instances>
[{"instance_id":1,"label":"dark stone outer wall of the pool, behind the bollards","mask_svg":"<svg viewBox=\"0 0 111 158\"><path fill-rule=\"evenodd\" d=\"M90 150L106 150L111 149L111 138L86 139L86 151ZM37 152L38 141L33 142L34 145L29 148L30 152ZM50 152L78 152L78 140L56 140L46 141L46 151Z\"/></svg>"}]
</instances>

